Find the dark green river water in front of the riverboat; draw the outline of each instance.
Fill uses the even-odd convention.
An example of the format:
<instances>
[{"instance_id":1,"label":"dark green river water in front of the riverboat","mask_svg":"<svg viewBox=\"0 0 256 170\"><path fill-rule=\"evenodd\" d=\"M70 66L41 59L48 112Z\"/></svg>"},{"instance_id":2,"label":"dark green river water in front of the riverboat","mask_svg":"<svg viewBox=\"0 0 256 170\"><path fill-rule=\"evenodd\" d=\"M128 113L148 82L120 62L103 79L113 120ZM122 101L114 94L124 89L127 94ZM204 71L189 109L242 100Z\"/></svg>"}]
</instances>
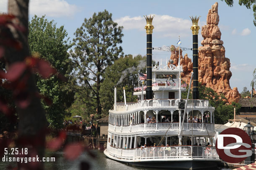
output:
<instances>
[{"instance_id":1,"label":"dark green river water in front of the riverboat","mask_svg":"<svg viewBox=\"0 0 256 170\"><path fill-rule=\"evenodd\" d=\"M46 162L45 170L81 170L81 162L87 162L90 168L85 168L87 170L153 170L150 168L140 168L140 167L131 167L124 163L111 160L107 158L103 152L99 150L91 151L95 158L91 157L88 152L83 152L78 159L74 161L67 161L63 157L63 152L47 152L46 157L56 157L55 162ZM2 162L0 161L0 170L6 170L7 166L15 167L16 163L14 162ZM231 170L225 168L219 168L217 170Z\"/></svg>"}]
</instances>

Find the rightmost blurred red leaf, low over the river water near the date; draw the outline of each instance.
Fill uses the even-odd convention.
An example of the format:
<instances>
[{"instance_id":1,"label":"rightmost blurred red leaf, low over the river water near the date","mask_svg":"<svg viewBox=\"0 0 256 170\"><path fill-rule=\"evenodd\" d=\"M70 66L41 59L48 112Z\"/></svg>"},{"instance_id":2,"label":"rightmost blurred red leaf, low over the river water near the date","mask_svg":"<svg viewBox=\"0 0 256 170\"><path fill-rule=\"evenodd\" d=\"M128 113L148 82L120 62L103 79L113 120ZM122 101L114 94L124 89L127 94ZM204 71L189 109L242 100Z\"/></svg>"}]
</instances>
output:
<instances>
[{"instance_id":1,"label":"rightmost blurred red leaf, low over the river water near the date","mask_svg":"<svg viewBox=\"0 0 256 170\"><path fill-rule=\"evenodd\" d=\"M83 152L84 147L80 143L67 145L64 149L64 157L67 160L75 160Z\"/></svg>"}]
</instances>

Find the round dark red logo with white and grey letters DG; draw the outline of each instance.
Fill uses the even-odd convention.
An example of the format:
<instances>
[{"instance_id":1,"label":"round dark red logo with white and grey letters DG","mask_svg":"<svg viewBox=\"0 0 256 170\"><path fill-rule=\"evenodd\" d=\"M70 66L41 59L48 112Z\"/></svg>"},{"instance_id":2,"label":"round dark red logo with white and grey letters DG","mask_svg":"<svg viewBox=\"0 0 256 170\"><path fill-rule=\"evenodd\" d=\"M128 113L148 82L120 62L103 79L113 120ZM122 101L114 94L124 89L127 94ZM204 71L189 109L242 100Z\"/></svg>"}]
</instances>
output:
<instances>
[{"instance_id":1,"label":"round dark red logo with white and grey letters DG","mask_svg":"<svg viewBox=\"0 0 256 170\"><path fill-rule=\"evenodd\" d=\"M242 162L252 155L251 139L242 129L232 127L223 130L216 140L219 157L228 163Z\"/></svg>"}]
</instances>

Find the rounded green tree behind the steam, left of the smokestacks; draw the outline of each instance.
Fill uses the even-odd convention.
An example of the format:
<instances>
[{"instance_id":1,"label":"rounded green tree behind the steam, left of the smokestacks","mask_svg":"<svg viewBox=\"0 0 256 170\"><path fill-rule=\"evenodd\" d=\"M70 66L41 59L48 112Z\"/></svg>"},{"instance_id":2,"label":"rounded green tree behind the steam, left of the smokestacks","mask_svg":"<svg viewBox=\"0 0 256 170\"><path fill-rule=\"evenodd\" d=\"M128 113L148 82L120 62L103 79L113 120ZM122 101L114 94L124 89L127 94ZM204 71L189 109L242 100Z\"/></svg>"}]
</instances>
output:
<instances>
[{"instance_id":1,"label":"rounded green tree behind the steam, left of the smokestacks","mask_svg":"<svg viewBox=\"0 0 256 170\"><path fill-rule=\"evenodd\" d=\"M112 66L107 67L104 82L100 89L104 116L114 104L114 89L117 87L117 101L124 101L123 87L127 102L134 102L133 88L138 86L138 71L145 73L146 57L127 55L118 58Z\"/></svg>"}]
</instances>

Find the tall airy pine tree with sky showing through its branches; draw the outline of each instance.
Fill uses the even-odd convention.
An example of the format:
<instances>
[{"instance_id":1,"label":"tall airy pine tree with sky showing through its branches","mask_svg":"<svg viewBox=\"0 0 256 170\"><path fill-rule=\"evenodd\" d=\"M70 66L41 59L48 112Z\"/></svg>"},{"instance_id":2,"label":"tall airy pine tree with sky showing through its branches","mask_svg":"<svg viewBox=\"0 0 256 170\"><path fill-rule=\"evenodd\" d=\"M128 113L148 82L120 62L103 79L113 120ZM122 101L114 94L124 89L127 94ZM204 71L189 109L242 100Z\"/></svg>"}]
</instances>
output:
<instances>
[{"instance_id":1,"label":"tall airy pine tree with sky showing through its branches","mask_svg":"<svg viewBox=\"0 0 256 170\"><path fill-rule=\"evenodd\" d=\"M112 20L112 14L104 10L85 18L76 30L74 53L71 51L75 68L72 87L86 104L87 112L102 113L99 91L107 67L123 54L121 46L118 47L122 43L122 29Z\"/></svg>"}]
</instances>

